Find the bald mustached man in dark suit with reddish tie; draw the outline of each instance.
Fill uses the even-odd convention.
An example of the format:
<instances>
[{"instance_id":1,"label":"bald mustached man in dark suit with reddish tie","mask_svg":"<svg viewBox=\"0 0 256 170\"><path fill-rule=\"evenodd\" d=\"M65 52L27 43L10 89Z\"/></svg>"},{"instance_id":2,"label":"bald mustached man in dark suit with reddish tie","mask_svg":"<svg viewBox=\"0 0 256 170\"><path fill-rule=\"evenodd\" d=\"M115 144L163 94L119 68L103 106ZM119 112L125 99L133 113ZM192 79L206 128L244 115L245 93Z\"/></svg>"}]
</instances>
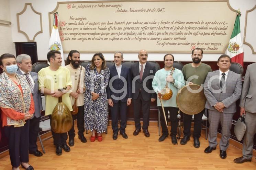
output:
<instances>
[{"instance_id":1,"label":"bald mustached man in dark suit with reddish tie","mask_svg":"<svg viewBox=\"0 0 256 170\"><path fill-rule=\"evenodd\" d=\"M152 88L152 81L156 73L155 66L147 62L148 53L146 50L140 50L138 53L139 62L131 66L132 81L132 99L134 109L135 131L133 135L141 132L140 110L143 113L143 132L149 137L149 109L151 102L156 100L156 93Z\"/></svg>"}]
</instances>

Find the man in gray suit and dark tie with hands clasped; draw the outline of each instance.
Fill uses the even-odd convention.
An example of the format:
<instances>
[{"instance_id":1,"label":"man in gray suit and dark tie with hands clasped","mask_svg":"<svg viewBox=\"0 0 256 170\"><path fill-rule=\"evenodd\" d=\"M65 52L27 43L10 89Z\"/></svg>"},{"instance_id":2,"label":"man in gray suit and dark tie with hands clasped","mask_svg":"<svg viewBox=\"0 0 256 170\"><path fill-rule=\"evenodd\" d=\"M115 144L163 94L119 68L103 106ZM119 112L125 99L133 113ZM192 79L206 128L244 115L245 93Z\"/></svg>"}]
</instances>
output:
<instances>
[{"instance_id":1,"label":"man in gray suit and dark tie with hands clasped","mask_svg":"<svg viewBox=\"0 0 256 170\"><path fill-rule=\"evenodd\" d=\"M241 75L229 70L231 58L223 54L219 57L219 70L209 72L204 83L205 108L209 112L209 146L204 153L211 153L217 146L218 126L221 123L220 157L227 157L230 129L233 114L236 112L236 100L242 91Z\"/></svg>"}]
</instances>

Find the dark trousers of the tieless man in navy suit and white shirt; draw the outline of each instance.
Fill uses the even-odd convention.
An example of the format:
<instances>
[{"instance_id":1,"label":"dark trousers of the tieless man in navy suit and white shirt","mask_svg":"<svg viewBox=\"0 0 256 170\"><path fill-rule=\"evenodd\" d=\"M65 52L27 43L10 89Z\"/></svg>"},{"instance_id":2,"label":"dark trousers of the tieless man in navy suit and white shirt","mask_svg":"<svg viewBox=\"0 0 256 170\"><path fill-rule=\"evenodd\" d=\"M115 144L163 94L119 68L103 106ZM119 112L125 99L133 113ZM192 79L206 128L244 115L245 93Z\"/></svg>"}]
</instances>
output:
<instances>
[{"instance_id":1,"label":"dark trousers of the tieless man in navy suit and white shirt","mask_svg":"<svg viewBox=\"0 0 256 170\"><path fill-rule=\"evenodd\" d=\"M118 119L120 113L120 129L118 128ZM114 103L111 107L111 123L113 133L125 133L126 128L126 114L127 114L127 102L122 102L119 100L117 103Z\"/></svg>"}]
</instances>

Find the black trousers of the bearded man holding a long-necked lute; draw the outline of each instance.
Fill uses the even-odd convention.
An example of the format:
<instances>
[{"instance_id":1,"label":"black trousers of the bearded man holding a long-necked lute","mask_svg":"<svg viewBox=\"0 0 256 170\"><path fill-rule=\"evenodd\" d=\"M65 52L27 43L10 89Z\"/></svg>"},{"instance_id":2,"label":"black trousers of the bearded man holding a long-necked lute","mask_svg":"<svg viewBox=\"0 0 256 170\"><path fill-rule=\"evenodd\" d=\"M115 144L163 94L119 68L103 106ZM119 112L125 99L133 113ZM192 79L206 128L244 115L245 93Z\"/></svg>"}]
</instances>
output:
<instances>
[{"instance_id":1,"label":"black trousers of the bearded man holding a long-necked lute","mask_svg":"<svg viewBox=\"0 0 256 170\"><path fill-rule=\"evenodd\" d=\"M74 129L74 120L75 118L77 117L77 129L78 129L78 136L82 136L84 135L84 132L85 132L85 126L84 126L84 122L85 122L85 117L84 117L84 114L85 114L85 107L84 106L78 106L78 112L76 115L72 115L73 117L73 126L72 128L68 131L68 136L69 136L69 139L74 139L75 137L75 129Z\"/></svg>"}]
</instances>

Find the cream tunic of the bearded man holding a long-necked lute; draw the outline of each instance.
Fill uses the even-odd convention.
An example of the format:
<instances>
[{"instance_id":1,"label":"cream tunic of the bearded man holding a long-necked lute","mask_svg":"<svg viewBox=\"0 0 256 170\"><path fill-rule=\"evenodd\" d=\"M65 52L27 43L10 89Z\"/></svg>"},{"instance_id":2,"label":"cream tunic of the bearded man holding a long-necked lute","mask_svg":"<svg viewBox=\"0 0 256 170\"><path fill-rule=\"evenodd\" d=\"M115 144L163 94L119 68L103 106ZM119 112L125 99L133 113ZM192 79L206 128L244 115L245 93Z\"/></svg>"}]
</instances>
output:
<instances>
[{"instance_id":1,"label":"cream tunic of the bearded man holding a long-necked lute","mask_svg":"<svg viewBox=\"0 0 256 170\"><path fill-rule=\"evenodd\" d=\"M77 69L72 68L69 64L65 66L71 74L71 81L72 81L72 88L71 90L73 92L76 92L77 90L77 84L78 84L78 79L79 79L79 74L80 74L80 67ZM83 66L82 67L82 72L81 72L81 76L80 76L80 83L79 83L79 87L84 88L85 87L85 68ZM71 105L74 105L75 102L75 97L70 95L70 100L71 100ZM76 105L77 106L84 106L84 93L80 93L78 96L78 99L76 101Z\"/></svg>"}]
</instances>

